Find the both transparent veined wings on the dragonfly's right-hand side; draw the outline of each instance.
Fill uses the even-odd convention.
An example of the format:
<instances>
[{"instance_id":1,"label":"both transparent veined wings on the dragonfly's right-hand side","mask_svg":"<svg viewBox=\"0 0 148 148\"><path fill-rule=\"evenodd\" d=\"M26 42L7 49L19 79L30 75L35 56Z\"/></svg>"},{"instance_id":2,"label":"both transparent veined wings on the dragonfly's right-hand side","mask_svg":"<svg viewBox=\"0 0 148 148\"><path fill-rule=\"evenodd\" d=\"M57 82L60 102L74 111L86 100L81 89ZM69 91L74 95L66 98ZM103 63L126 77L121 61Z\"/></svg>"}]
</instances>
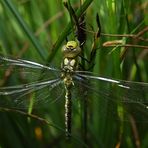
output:
<instances>
[{"instance_id":1,"label":"both transparent veined wings on the dragonfly's right-hand side","mask_svg":"<svg viewBox=\"0 0 148 148\"><path fill-rule=\"evenodd\" d=\"M90 72L77 73L74 78L102 117L129 121L132 115L136 121L148 122L148 83L113 80Z\"/></svg>"}]
</instances>

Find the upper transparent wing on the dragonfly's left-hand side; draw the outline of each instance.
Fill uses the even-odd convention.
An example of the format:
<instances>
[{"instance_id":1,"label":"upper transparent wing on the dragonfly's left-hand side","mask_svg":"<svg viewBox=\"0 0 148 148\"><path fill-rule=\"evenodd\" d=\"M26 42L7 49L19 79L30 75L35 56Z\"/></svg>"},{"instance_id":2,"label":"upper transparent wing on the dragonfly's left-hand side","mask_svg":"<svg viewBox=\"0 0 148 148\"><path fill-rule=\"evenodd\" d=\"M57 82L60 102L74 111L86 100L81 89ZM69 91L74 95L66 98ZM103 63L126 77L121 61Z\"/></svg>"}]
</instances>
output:
<instances>
[{"instance_id":1,"label":"upper transparent wing on the dragonfly's left-hand side","mask_svg":"<svg viewBox=\"0 0 148 148\"><path fill-rule=\"evenodd\" d=\"M5 79L8 79L7 77L13 77L15 85L17 85L45 78L54 79L56 76L59 77L60 70L32 61L15 60L0 56L0 73L1 83L3 83ZM18 80L20 80L21 83L19 83ZM10 85L14 85L14 83Z\"/></svg>"}]
</instances>

